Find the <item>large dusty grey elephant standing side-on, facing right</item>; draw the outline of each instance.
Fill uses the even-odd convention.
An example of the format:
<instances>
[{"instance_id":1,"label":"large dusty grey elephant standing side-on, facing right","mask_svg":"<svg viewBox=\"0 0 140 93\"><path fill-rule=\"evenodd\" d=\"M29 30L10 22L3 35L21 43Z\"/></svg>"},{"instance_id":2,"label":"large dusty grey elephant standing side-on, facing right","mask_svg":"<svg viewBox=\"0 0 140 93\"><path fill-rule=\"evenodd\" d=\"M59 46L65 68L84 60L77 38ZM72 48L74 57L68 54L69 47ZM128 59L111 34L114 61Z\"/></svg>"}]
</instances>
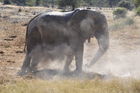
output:
<instances>
[{"instance_id":1,"label":"large dusty grey elephant standing side-on, facing right","mask_svg":"<svg viewBox=\"0 0 140 93\"><path fill-rule=\"evenodd\" d=\"M103 14L91 10L75 10L61 15L42 13L34 17L27 26L27 53L20 74L36 70L38 60L31 55L36 46L57 46L67 44L68 53L64 72L69 72L73 57L76 61L76 72L82 71L84 42L95 37L99 49L89 66L93 65L109 47L109 33L106 18Z\"/></svg>"}]
</instances>

